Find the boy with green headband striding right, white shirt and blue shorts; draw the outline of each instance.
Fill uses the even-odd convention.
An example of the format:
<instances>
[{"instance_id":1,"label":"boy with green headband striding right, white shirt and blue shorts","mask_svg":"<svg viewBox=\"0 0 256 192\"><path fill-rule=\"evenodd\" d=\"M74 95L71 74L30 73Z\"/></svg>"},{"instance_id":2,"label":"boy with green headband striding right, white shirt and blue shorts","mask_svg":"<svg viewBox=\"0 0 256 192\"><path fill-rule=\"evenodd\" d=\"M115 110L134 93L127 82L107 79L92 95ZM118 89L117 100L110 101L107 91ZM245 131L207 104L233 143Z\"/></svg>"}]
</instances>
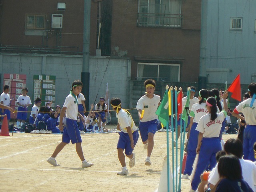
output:
<instances>
[{"instance_id":1,"label":"boy with green headband striding right, white shirt and blue shorts","mask_svg":"<svg viewBox=\"0 0 256 192\"><path fill-rule=\"evenodd\" d=\"M62 142L60 142L60 144L56 146L56 149L54 150L52 156L47 160L47 162L52 164L53 166L60 166L59 164L57 164L55 158L59 154L59 152L66 146L66 144L70 142L70 140L72 144L76 144L76 152L80 160L82 161L82 167L93 166L92 163L88 163L84 159L84 154L82 150L82 138L80 136L77 125L77 116L79 116L84 122L84 117L78 113L77 106L77 95L81 92L82 86L82 82L78 80L72 83L72 90L70 91L70 94L66 97L65 103L60 111L60 122L62 122L65 112L66 120L64 128L62 123L60 123L59 125L60 131L63 131Z\"/></svg>"}]
</instances>

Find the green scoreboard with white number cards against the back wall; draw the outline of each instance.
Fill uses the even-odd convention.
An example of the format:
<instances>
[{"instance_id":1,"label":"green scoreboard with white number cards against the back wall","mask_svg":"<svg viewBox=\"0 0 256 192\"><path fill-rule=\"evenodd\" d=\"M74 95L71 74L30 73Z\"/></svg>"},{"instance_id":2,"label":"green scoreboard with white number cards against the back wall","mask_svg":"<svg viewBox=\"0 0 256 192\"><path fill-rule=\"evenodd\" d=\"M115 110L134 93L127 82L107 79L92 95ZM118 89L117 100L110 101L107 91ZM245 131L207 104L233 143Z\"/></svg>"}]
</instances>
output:
<instances>
[{"instance_id":1,"label":"green scoreboard with white number cards against the back wall","mask_svg":"<svg viewBox=\"0 0 256 192\"><path fill-rule=\"evenodd\" d=\"M34 75L33 76L33 100L37 97L42 99L42 106L46 102L52 102L52 107L55 106L55 80L54 75Z\"/></svg>"}]
</instances>

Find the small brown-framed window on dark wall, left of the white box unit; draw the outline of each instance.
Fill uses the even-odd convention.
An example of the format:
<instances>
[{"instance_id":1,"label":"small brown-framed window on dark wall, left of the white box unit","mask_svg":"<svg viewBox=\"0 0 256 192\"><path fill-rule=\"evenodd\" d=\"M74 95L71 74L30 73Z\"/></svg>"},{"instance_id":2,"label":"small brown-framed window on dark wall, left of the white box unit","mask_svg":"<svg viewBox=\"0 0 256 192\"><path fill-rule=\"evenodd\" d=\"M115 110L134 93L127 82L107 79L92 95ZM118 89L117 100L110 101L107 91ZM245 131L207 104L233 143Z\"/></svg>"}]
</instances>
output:
<instances>
[{"instance_id":1,"label":"small brown-framed window on dark wall, left of the white box unit","mask_svg":"<svg viewBox=\"0 0 256 192\"><path fill-rule=\"evenodd\" d=\"M27 29L45 29L45 15L28 14Z\"/></svg>"}]
</instances>

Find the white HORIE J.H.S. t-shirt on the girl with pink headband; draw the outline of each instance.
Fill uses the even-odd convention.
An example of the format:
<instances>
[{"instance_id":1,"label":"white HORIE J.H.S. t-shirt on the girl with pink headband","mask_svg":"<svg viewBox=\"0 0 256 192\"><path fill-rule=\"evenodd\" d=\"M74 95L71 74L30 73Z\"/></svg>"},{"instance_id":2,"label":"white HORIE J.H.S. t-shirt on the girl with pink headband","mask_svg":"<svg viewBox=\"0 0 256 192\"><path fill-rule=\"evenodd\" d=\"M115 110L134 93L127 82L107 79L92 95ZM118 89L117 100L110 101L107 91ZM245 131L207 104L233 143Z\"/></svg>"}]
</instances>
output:
<instances>
[{"instance_id":1,"label":"white HORIE J.H.S. t-shirt on the girl with pink headband","mask_svg":"<svg viewBox=\"0 0 256 192\"><path fill-rule=\"evenodd\" d=\"M227 112L222 110L222 112L217 113L217 118L212 121L211 114L208 113L200 118L198 125L196 126L196 130L204 133L203 137L218 137L222 127L222 122L224 121L226 115Z\"/></svg>"}]
</instances>

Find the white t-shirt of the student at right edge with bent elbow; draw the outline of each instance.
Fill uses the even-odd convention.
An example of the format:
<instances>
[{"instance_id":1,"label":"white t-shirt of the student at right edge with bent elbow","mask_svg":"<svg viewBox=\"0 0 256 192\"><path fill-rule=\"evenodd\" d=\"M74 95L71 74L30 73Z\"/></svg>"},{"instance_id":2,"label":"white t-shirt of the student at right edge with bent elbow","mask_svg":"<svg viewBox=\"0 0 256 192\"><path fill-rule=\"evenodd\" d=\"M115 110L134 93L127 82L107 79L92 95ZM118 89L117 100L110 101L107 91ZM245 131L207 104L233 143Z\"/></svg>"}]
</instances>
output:
<instances>
[{"instance_id":1,"label":"white t-shirt of the student at right edge with bent elbow","mask_svg":"<svg viewBox=\"0 0 256 192\"><path fill-rule=\"evenodd\" d=\"M244 100L236 106L236 110L244 114L247 124L256 125L256 100L254 100L252 107L250 107L251 101L252 98Z\"/></svg>"}]
</instances>

